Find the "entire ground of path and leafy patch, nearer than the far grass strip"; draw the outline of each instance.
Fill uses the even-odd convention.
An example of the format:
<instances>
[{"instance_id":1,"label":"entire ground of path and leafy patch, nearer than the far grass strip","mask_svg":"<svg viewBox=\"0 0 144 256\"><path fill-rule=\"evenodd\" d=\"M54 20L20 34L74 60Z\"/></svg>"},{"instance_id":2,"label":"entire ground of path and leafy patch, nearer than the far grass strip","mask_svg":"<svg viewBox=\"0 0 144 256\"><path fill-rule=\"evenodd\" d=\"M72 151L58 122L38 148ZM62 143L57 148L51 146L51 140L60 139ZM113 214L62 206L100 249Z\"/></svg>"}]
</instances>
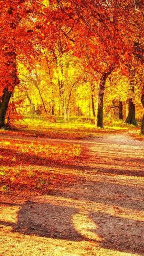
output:
<instances>
[{"instance_id":1,"label":"entire ground of path and leafy patch, nearer than the far grass strip","mask_svg":"<svg viewBox=\"0 0 144 256\"><path fill-rule=\"evenodd\" d=\"M84 140L0 134L0 143L0 256L144 255L144 142L111 132ZM38 155L48 145L52 156Z\"/></svg>"}]
</instances>

